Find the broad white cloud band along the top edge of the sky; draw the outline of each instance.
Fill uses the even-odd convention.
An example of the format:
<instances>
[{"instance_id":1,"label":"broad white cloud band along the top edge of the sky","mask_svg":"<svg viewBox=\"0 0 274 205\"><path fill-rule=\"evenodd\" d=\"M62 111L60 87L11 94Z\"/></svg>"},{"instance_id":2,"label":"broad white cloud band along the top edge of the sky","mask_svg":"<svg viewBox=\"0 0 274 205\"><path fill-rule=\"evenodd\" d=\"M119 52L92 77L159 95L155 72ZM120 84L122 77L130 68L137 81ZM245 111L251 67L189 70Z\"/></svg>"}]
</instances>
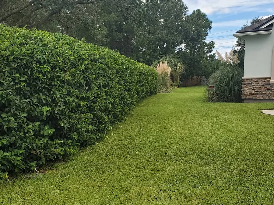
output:
<instances>
[{"instance_id":1,"label":"broad white cloud band along the top edge of the sky","mask_svg":"<svg viewBox=\"0 0 274 205\"><path fill-rule=\"evenodd\" d=\"M189 12L200 8L206 14L260 11L258 6L274 3L274 0L185 0Z\"/></svg>"}]
</instances>

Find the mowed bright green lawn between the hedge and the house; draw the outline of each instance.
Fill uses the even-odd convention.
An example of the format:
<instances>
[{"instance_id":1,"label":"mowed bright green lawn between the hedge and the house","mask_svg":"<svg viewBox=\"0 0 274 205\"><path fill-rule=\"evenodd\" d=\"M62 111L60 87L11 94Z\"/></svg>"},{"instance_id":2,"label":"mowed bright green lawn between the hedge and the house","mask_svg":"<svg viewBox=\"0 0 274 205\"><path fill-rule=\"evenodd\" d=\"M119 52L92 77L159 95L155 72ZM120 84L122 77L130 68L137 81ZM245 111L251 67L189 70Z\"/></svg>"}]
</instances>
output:
<instances>
[{"instance_id":1,"label":"mowed bright green lawn between the hedge and the house","mask_svg":"<svg viewBox=\"0 0 274 205\"><path fill-rule=\"evenodd\" d=\"M0 204L274 204L274 103L204 103L188 87L141 101L99 144Z\"/></svg>"}]
</instances>

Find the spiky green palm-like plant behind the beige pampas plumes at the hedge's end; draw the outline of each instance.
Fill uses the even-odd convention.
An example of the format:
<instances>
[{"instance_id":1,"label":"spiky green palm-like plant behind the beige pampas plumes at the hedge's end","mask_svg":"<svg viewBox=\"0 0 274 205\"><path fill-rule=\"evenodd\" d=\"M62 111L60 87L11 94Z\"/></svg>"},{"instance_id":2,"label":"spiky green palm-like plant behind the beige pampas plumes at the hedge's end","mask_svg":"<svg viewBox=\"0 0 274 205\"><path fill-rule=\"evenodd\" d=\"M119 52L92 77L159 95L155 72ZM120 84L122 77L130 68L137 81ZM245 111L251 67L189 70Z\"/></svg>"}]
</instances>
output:
<instances>
[{"instance_id":1,"label":"spiky green palm-like plant behind the beige pampas plumes at the hedge's end","mask_svg":"<svg viewBox=\"0 0 274 205\"><path fill-rule=\"evenodd\" d=\"M160 62L167 62L167 65L171 69L170 77L174 84L174 86L178 86L180 84L180 76L184 70L184 63L181 62L181 59L176 54L168 54L160 56L160 60L155 60L152 65L156 67L160 64Z\"/></svg>"}]
</instances>

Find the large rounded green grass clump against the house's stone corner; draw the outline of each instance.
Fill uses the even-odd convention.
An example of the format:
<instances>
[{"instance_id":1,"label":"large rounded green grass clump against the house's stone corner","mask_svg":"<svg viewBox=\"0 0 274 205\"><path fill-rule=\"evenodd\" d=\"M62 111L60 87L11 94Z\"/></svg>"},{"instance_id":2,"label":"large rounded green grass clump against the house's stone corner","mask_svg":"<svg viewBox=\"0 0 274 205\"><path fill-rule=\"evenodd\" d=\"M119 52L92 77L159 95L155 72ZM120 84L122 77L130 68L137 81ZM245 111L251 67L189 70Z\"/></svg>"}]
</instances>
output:
<instances>
[{"instance_id":1,"label":"large rounded green grass clump against the house's stone corner","mask_svg":"<svg viewBox=\"0 0 274 205\"><path fill-rule=\"evenodd\" d=\"M205 89L204 100L207 102L240 102L242 87L242 70L237 64L225 64L213 73Z\"/></svg>"}]
</instances>

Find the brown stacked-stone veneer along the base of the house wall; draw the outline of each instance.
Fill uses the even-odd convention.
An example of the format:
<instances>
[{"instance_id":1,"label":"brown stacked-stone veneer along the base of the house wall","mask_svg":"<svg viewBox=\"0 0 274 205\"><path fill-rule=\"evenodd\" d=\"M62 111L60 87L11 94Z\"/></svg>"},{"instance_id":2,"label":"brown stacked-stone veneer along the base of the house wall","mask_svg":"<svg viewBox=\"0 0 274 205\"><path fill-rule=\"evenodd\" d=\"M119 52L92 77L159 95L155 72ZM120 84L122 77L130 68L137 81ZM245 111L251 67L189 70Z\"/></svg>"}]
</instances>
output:
<instances>
[{"instance_id":1,"label":"brown stacked-stone veneer along the base of the house wall","mask_svg":"<svg viewBox=\"0 0 274 205\"><path fill-rule=\"evenodd\" d=\"M243 78L242 99L274 99L271 78Z\"/></svg>"}]
</instances>

